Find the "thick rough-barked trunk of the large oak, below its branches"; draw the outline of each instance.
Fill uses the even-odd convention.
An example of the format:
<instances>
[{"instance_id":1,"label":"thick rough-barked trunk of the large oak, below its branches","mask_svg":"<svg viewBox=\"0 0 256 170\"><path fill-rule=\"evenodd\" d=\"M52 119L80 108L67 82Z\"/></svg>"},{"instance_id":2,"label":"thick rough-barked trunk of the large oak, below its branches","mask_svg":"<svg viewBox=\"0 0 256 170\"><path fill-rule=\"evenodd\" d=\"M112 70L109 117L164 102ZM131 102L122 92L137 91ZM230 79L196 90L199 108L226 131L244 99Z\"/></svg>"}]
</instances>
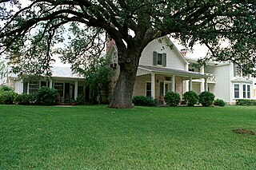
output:
<instances>
[{"instance_id":1,"label":"thick rough-barked trunk of the large oak, below its branches","mask_svg":"<svg viewBox=\"0 0 256 170\"><path fill-rule=\"evenodd\" d=\"M128 52L125 62L120 62L120 73L118 81L114 86L114 93L110 102L110 108L126 109L132 107L132 96L138 70L138 61L141 53L136 50Z\"/></svg>"}]
</instances>

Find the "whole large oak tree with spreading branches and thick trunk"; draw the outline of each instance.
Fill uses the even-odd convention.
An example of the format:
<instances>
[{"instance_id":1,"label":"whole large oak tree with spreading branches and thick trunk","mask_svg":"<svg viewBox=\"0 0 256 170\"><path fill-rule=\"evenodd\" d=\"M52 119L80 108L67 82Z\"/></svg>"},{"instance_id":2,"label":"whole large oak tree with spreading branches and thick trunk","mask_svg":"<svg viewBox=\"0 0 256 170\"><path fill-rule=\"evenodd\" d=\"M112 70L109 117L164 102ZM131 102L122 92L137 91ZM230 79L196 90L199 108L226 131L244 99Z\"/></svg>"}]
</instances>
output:
<instances>
[{"instance_id":1,"label":"whole large oak tree with spreading branches and thick trunk","mask_svg":"<svg viewBox=\"0 0 256 170\"><path fill-rule=\"evenodd\" d=\"M108 34L118 47L120 74L110 107L130 108L142 50L171 35L210 49L216 61L255 73L254 0L0 0L0 47L20 73L48 73L54 53L86 69ZM229 46L222 47L227 41ZM66 45L63 45L65 44ZM63 47L63 48L62 48ZM21 67L22 65L22 67ZM80 65L80 66L79 66Z\"/></svg>"}]
</instances>

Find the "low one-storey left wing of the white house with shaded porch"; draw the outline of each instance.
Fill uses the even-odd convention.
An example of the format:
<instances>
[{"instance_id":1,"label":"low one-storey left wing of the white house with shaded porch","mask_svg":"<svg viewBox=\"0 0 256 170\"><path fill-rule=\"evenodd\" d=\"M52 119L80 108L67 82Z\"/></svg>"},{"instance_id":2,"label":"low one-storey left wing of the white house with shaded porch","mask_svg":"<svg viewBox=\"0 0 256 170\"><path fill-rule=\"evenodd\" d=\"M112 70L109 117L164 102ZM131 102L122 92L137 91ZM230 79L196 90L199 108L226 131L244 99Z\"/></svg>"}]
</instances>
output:
<instances>
[{"instance_id":1,"label":"low one-storey left wing of the white house with shaded porch","mask_svg":"<svg viewBox=\"0 0 256 170\"><path fill-rule=\"evenodd\" d=\"M90 92L87 89L86 79L71 73L70 68L54 67L52 77L42 77L37 81L23 81L17 75L9 77L9 85L16 93L34 93L42 86L58 90L59 103L67 103L70 99L77 99L79 95L90 99Z\"/></svg>"}]
</instances>

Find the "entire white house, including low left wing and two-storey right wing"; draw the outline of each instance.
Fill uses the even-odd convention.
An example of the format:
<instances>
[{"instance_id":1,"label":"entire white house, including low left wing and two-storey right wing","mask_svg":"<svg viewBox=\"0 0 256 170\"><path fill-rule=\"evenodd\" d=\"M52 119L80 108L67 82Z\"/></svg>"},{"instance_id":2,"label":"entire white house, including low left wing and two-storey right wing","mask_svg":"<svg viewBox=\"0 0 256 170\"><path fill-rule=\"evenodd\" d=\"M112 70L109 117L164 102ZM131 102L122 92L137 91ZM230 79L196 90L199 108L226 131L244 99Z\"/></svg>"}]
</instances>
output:
<instances>
[{"instance_id":1,"label":"entire white house, including low left wing and two-storey right wing","mask_svg":"<svg viewBox=\"0 0 256 170\"><path fill-rule=\"evenodd\" d=\"M118 49L114 41L107 44L107 55L110 57L110 67L116 70L111 80L108 92L112 93L118 79ZM205 67L193 65L196 59L184 57L177 47L167 37L150 42L142 52L139 61L137 77L134 85L134 96L153 97L163 102L169 91L183 93L193 90L196 93L210 91L215 98L228 104L234 104L237 99L255 98L256 90L252 77L244 76L233 63L209 62ZM90 99L90 89L86 80L71 73L70 68L54 67L52 77L41 81L25 82L17 75L9 75L9 85L17 93L33 93L43 85L58 89L61 101L65 103L78 94L86 94Z\"/></svg>"}]
</instances>

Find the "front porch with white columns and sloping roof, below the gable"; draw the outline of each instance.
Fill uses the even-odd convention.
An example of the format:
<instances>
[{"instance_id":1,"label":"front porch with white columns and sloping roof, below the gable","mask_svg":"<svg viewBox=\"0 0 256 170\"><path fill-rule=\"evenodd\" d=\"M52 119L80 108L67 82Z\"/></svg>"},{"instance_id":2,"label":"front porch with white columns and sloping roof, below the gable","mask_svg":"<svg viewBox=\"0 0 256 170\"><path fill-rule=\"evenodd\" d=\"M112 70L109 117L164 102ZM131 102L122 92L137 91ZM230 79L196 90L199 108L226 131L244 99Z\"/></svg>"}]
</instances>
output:
<instances>
[{"instance_id":1,"label":"front porch with white columns and sloping roof, below the gable","mask_svg":"<svg viewBox=\"0 0 256 170\"><path fill-rule=\"evenodd\" d=\"M152 97L160 102L164 101L167 92L182 94L193 90L193 80L204 79L204 90L208 89L208 76L185 70L166 69L162 67L139 65L134 85L134 96Z\"/></svg>"}]
</instances>

